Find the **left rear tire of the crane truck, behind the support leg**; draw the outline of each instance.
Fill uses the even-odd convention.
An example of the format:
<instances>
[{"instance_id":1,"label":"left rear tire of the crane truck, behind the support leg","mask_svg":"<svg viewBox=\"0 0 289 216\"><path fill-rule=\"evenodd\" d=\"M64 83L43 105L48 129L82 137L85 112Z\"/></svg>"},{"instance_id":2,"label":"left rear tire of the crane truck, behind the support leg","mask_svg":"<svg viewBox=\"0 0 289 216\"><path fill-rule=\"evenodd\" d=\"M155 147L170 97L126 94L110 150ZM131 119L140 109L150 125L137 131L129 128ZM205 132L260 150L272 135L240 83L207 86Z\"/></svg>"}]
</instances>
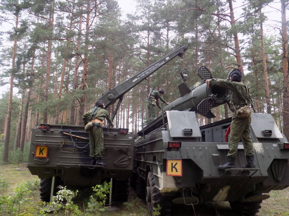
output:
<instances>
[{"instance_id":1,"label":"left rear tire of the crane truck, behind the support leg","mask_svg":"<svg viewBox=\"0 0 289 216\"><path fill-rule=\"evenodd\" d=\"M43 202L49 202L50 201L51 184L52 184L52 178L40 179L40 187L39 187L40 199ZM53 190L54 196L56 195L58 185L61 185L61 180L59 177L55 177L54 190Z\"/></svg>"}]
</instances>

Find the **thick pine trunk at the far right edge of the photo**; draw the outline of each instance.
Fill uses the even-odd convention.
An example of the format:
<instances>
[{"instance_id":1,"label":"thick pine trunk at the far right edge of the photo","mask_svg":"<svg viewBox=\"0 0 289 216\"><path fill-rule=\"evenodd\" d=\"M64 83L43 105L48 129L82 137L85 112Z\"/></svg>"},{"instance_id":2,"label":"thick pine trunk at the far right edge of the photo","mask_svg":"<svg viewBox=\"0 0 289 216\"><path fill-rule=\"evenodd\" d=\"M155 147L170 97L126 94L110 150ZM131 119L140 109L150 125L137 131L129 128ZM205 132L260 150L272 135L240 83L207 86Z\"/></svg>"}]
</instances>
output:
<instances>
[{"instance_id":1,"label":"thick pine trunk at the far right edge of the photo","mask_svg":"<svg viewBox=\"0 0 289 216\"><path fill-rule=\"evenodd\" d=\"M283 72L283 133L289 138L289 89L288 89L288 44L286 0L281 0L282 72Z\"/></svg>"}]
</instances>

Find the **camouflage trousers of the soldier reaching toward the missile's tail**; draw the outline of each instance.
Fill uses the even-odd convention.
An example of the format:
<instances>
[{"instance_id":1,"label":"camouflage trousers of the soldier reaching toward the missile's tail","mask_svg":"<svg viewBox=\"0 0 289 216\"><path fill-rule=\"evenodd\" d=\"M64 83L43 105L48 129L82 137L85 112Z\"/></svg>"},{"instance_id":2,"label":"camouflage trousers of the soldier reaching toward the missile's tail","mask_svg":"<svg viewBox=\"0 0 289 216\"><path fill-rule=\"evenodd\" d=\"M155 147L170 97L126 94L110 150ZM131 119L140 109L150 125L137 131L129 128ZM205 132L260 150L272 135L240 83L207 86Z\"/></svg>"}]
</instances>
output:
<instances>
[{"instance_id":1,"label":"camouflage trousers of the soldier reaching toward the missile's tail","mask_svg":"<svg viewBox=\"0 0 289 216\"><path fill-rule=\"evenodd\" d=\"M250 129L251 117L239 119L235 116L232 118L231 131L229 137L229 152L227 156L236 158L238 151L238 144L242 137L242 143L247 156L254 155L253 142L251 138Z\"/></svg>"}]
</instances>

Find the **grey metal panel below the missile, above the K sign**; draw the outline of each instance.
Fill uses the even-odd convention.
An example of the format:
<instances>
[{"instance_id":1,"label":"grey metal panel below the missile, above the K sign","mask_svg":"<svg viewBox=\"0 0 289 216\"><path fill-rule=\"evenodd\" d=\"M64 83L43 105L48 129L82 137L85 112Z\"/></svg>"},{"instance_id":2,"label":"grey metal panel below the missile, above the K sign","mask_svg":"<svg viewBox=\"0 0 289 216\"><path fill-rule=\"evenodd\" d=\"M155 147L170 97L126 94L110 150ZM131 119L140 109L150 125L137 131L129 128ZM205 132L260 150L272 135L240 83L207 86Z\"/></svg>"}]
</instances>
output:
<instances>
[{"instance_id":1,"label":"grey metal panel below the missile, above the K sign","mask_svg":"<svg viewBox=\"0 0 289 216\"><path fill-rule=\"evenodd\" d=\"M171 137L201 137L195 112L166 111ZM183 135L182 130L192 129L192 135Z\"/></svg>"}]
</instances>

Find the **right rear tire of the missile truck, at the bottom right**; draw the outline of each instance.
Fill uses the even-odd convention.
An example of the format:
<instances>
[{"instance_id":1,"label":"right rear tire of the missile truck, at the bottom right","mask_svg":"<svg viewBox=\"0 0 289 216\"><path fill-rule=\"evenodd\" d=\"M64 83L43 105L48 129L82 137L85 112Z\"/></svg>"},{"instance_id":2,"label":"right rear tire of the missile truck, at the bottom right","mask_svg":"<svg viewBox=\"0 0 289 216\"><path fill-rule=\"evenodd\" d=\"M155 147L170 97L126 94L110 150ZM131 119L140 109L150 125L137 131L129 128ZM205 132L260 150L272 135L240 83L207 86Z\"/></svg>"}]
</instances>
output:
<instances>
[{"instance_id":1,"label":"right rear tire of the missile truck, at the bottom right","mask_svg":"<svg viewBox=\"0 0 289 216\"><path fill-rule=\"evenodd\" d=\"M231 208L236 212L241 212L246 216L254 216L261 208L262 201L256 202L230 202Z\"/></svg>"}]
</instances>

